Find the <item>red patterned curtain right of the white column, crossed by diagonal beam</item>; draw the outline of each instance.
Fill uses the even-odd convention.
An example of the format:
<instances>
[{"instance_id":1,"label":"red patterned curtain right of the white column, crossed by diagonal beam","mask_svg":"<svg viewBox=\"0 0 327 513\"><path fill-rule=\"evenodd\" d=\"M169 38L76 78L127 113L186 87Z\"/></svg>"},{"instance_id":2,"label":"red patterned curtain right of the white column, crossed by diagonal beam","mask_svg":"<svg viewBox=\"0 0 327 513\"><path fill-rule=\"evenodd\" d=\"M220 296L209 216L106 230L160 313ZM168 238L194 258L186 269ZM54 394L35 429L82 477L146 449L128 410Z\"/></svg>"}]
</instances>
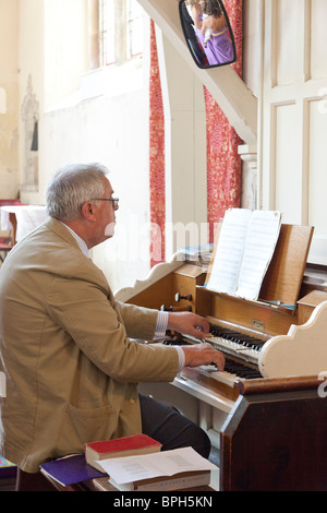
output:
<instances>
[{"instance_id":1,"label":"red patterned curtain right of the white column, crossed by diagonal beam","mask_svg":"<svg viewBox=\"0 0 327 513\"><path fill-rule=\"evenodd\" d=\"M225 0L223 3L238 56L232 67L241 76L242 0ZM238 155L238 145L242 141L210 93L206 88L204 91L207 114L207 219L209 242L214 242L215 223L223 217L227 208L240 206L241 158Z\"/></svg>"}]
</instances>

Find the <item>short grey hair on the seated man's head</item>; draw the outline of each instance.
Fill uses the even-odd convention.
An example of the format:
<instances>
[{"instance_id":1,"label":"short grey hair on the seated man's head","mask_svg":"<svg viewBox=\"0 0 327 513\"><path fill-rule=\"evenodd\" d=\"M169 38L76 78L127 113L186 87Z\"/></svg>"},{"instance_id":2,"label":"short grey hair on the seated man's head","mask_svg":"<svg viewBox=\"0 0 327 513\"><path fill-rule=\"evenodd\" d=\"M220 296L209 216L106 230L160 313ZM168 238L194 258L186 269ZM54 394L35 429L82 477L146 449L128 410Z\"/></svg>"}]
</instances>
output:
<instances>
[{"instance_id":1,"label":"short grey hair on the seated man's head","mask_svg":"<svg viewBox=\"0 0 327 513\"><path fill-rule=\"evenodd\" d=\"M70 164L49 181L46 189L48 215L57 219L74 220L84 202L101 198L108 169L101 164Z\"/></svg>"}]
</instances>

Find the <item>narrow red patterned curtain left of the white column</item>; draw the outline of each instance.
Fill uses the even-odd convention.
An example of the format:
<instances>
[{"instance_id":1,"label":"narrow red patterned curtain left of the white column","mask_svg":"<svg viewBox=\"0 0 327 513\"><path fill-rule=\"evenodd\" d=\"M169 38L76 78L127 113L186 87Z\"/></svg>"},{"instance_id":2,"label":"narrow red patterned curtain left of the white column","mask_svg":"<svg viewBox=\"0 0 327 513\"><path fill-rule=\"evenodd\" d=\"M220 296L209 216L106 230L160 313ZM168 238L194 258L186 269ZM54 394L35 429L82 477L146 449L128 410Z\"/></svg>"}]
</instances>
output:
<instances>
[{"instance_id":1,"label":"narrow red patterned curtain left of the white column","mask_svg":"<svg viewBox=\"0 0 327 513\"><path fill-rule=\"evenodd\" d=\"M165 118L155 24L150 21L149 72L150 265L165 261Z\"/></svg>"}]
</instances>

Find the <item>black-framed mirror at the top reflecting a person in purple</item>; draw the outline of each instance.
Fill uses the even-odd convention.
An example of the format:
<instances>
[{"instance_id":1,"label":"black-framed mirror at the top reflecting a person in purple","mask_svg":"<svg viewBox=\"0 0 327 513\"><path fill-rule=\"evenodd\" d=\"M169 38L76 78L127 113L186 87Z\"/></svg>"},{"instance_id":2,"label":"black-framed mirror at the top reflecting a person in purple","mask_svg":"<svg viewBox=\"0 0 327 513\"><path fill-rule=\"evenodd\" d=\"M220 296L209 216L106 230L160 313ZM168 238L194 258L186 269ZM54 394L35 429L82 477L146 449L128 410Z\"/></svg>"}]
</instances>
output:
<instances>
[{"instance_id":1,"label":"black-framed mirror at the top reflecting a person in purple","mask_svg":"<svg viewBox=\"0 0 327 513\"><path fill-rule=\"evenodd\" d=\"M189 49L199 68L237 60L233 33L220 0L180 0L179 10Z\"/></svg>"}]
</instances>

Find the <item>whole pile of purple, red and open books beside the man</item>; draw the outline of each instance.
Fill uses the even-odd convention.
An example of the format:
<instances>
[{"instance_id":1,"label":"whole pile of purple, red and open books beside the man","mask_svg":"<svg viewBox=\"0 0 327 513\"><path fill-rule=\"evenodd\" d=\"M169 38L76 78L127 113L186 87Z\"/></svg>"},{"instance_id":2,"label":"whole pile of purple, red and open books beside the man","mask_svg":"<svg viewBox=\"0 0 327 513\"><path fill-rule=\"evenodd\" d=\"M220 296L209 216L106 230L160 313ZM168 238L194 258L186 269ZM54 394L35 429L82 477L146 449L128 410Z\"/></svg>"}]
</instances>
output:
<instances>
[{"instance_id":1,"label":"whole pile of purple, red and open books beside the man","mask_svg":"<svg viewBox=\"0 0 327 513\"><path fill-rule=\"evenodd\" d=\"M89 442L84 454L40 465L46 476L65 487L107 477L121 491L167 491L208 486L217 467L192 448L160 451L161 444L137 434Z\"/></svg>"}]
</instances>

